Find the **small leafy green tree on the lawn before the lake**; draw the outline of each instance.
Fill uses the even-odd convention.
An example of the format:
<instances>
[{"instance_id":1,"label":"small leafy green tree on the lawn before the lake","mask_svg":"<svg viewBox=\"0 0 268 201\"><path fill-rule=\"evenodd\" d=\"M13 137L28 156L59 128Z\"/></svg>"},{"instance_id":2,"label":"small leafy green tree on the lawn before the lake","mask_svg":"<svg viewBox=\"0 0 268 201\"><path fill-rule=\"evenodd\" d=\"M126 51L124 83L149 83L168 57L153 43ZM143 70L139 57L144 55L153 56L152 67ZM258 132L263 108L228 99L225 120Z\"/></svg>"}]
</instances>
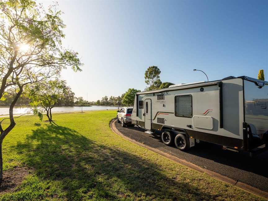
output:
<instances>
[{"instance_id":1,"label":"small leafy green tree on the lawn before the lake","mask_svg":"<svg viewBox=\"0 0 268 201\"><path fill-rule=\"evenodd\" d=\"M25 91L28 93L30 105L34 108L34 114L38 114L42 120L42 112L45 111L48 121L51 122L51 109L64 97L67 87L65 81L56 79L29 85ZM41 106L41 109L38 106Z\"/></svg>"}]
</instances>

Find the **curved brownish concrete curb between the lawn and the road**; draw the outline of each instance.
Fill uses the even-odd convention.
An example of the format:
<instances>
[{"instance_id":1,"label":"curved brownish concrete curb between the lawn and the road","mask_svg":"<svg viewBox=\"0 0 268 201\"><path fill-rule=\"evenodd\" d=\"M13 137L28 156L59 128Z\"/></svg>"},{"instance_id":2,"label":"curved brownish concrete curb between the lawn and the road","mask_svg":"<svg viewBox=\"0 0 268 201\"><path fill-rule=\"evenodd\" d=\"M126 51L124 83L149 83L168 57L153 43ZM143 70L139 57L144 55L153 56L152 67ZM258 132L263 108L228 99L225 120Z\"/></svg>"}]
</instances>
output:
<instances>
[{"instance_id":1,"label":"curved brownish concrete curb between the lawn and the road","mask_svg":"<svg viewBox=\"0 0 268 201\"><path fill-rule=\"evenodd\" d=\"M191 168L191 169L193 169L193 170L195 170L195 171L198 171L198 172L201 172L201 173L206 173L206 174L208 174L209 176L211 176L211 177L213 177L213 178L215 178L215 179L217 179L217 180L219 180L219 181L223 181L223 182L225 182L225 183L227 183L227 184L234 185L234 186L236 186L236 187L238 187L238 188L240 188L240 189L243 189L243 190L245 190L245 191L248 191L249 193L255 194L255 195L257 195L257 196L260 196L260 197L262 197L262 198L268 200L268 193L265 192L265 191L259 190L259 189L255 188L255 187L252 187L252 186L250 186L250 185L241 183L241 182L239 182L239 181L235 181L235 180L230 179L230 178L227 177L227 176L223 176L223 175L221 175L221 174L219 174L219 173L217 173L217 172L213 172L213 171L210 171L210 170L208 170L208 169L201 168L201 167L199 167L198 165L195 165L195 164L193 164L193 163L190 163L190 162L188 162L188 161L186 161L186 160L179 159L179 158L177 158L176 156L172 156L172 155L170 155L170 154L164 153L164 152L162 152L162 151L160 151L160 150L158 150L158 149L152 148L152 147L150 147L150 146L148 146L148 145L142 144L142 143L140 143L140 142L138 142L138 141L136 141L136 140L133 140L133 139L127 137L127 136L124 136L123 133L121 133L121 132L115 127L115 122L116 122L116 119L112 119L112 120L110 121L109 126L110 126L111 130L112 130L114 133L116 133L117 135L123 137L124 139L126 139L126 140L128 140L128 141L130 141L130 142L132 142L132 143L134 143L134 144L136 144L136 145L139 145L139 146L141 146L141 147L144 147L144 148L146 148L146 149L148 149L148 150L151 150L151 151L153 151L153 152L155 152L155 153L157 153L157 154L159 154L159 155L161 155L161 156L164 156L164 157L166 157L166 158L168 158L168 159L170 159L170 160L172 160L172 161L174 161L174 162L176 162L176 163L179 163L179 164L181 164L181 165L184 165L184 166L186 166L186 167L188 167L188 168Z\"/></svg>"}]
</instances>

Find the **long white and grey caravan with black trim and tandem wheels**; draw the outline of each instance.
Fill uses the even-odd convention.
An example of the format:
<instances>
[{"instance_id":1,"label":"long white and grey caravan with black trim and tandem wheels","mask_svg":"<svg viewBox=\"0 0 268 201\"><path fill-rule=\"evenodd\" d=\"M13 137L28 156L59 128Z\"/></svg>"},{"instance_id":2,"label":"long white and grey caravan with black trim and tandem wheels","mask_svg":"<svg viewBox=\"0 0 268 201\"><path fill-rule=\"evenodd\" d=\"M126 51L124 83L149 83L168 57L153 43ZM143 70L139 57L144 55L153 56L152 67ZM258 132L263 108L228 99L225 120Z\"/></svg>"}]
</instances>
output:
<instances>
[{"instance_id":1,"label":"long white and grey caravan with black trim and tandem wheels","mask_svg":"<svg viewBox=\"0 0 268 201\"><path fill-rule=\"evenodd\" d=\"M242 77L138 92L132 123L187 150L208 141L251 154L268 141L268 82Z\"/></svg>"}]
</instances>

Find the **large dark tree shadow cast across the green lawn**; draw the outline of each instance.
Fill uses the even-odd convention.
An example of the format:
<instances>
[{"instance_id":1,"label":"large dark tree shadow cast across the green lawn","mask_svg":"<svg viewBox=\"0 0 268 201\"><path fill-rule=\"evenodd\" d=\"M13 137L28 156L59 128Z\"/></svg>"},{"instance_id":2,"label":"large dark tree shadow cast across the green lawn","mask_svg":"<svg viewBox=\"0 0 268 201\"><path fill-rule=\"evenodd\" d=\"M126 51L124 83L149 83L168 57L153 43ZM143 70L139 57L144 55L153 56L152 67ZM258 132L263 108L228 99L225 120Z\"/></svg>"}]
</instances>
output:
<instances>
[{"instance_id":1,"label":"large dark tree shadow cast across the green lawn","mask_svg":"<svg viewBox=\"0 0 268 201\"><path fill-rule=\"evenodd\" d=\"M219 196L201 192L186 181L187 175L182 181L171 179L158 165L97 144L68 127L51 123L32 132L15 149L24 154L24 164L34 168L39 178L59 182L68 200L208 200Z\"/></svg>"}]
</instances>

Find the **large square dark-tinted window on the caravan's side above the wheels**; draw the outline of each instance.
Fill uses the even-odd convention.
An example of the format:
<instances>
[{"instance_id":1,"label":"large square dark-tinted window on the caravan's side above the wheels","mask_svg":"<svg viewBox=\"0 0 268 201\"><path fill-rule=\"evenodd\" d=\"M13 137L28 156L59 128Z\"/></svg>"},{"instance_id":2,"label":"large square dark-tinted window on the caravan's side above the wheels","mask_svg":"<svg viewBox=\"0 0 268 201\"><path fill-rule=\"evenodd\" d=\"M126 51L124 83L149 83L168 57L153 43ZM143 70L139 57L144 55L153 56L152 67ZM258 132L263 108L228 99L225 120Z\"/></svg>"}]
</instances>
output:
<instances>
[{"instance_id":1,"label":"large square dark-tinted window on the caravan's side above the wheels","mask_svg":"<svg viewBox=\"0 0 268 201\"><path fill-rule=\"evenodd\" d=\"M192 95L175 96L175 116L192 117Z\"/></svg>"}]
</instances>

